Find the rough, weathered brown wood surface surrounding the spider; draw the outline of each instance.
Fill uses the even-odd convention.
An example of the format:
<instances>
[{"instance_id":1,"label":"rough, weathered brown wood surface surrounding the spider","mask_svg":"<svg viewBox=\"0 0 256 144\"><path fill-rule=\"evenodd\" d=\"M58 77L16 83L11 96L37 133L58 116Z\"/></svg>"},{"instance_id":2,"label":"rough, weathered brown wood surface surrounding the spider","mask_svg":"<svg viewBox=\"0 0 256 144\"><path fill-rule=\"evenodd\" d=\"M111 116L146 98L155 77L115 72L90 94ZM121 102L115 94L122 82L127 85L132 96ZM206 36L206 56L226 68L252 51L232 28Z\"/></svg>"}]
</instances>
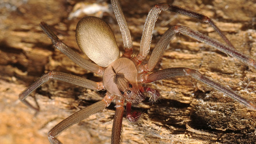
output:
<instances>
[{"instance_id":1,"label":"rough, weathered brown wood surface surrounding the spider","mask_svg":"<svg viewBox=\"0 0 256 144\"><path fill-rule=\"evenodd\" d=\"M89 60L78 48L75 28L79 18L67 20L78 1L28 0L0 3L0 140L3 144L49 143L47 132L79 108L103 98L105 92L95 92L60 81L50 81L31 94L40 112L29 109L18 95L43 73L51 70L71 73L94 81L101 77L78 67L64 54L54 49L39 28L47 22L67 45ZM95 1L91 1L92 3ZM144 21L151 6L171 0L125 0L124 15L132 32L135 53L139 51ZM100 2L101 3L101 2ZM109 1L107 1L109 3ZM225 32L237 50L256 55L256 2L243 0L174 0L173 4L202 12ZM113 29L118 46L123 42L112 11L103 19ZM175 24L187 25L220 40L210 26L174 13L161 12L154 31L151 48L160 36ZM256 70L234 58L192 38L177 35L157 69L188 67L224 84L241 96L256 102ZM123 119L123 143L218 144L255 143L256 113L223 96L196 80L185 77L172 81L147 84L161 90L162 99L133 105L143 115L136 124ZM34 99L28 100L33 102ZM65 143L110 143L115 108L111 104L102 112L63 132Z\"/></svg>"}]
</instances>

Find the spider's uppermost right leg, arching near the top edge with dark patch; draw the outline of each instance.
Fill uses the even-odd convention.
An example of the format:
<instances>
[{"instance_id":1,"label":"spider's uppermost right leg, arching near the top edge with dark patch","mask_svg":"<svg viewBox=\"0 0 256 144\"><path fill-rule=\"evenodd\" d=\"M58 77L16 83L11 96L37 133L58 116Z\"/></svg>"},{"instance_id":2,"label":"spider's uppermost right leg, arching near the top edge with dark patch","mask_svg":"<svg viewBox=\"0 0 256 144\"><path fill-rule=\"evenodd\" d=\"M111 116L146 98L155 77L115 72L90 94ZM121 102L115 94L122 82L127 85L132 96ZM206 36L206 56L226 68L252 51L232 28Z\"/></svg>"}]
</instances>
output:
<instances>
[{"instance_id":1,"label":"spider's uppermost right leg, arching near the top edge with dark patch","mask_svg":"<svg viewBox=\"0 0 256 144\"><path fill-rule=\"evenodd\" d=\"M199 20L202 23L208 23L220 35L220 37L231 47L231 49L234 49L234 46L230 43L230 41L224 35L224 33L206 15L199 12L194 12L176 5L160 3L160 4L154 5L148 13L148 16L143 28L143 32L142 32L141 41L140 41L140 53L136 57L134 57L134 61L136 63L140 64L141 61L147 58L155 23L161 10L168 11L168 12L175 12L175 13Z\"/></svg>"}]
</instances>

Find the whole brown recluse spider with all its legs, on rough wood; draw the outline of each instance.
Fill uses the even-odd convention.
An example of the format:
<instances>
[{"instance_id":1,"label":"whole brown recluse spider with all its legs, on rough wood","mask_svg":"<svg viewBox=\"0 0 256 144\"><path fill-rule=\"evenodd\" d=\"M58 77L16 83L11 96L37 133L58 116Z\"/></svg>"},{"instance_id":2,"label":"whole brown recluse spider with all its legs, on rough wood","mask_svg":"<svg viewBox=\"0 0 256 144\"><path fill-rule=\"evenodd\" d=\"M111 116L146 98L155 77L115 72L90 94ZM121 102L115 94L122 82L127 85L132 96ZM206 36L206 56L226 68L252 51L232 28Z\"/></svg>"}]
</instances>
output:
<instances>
[{"instance_id":1,"label":"whole brown recluse spider with all its legs, on rough wood","mask_svg":"<svg viewBox=\"0 0 256 144\"><path fill-rule=\"evenodd\" d=\"M229 56L235 57L237 60L240 60L248 66L253 66L256 68L255 61L250 56L245 55L242 52L238 52L230 43L228 38L223 34L223 32L206 15L166 3L154 5L149 11L144 25L140 42L140 52L136 56L132 57L133 45L131 34L127 22L124 18L121 4L118 0L111 0L111 4L124 40L124 53L122 56L120 56L115 36L111 28L105 21L100 18L92 16L84 17L78 22L76 27L76 41L79 48L95 63L84 60L81 56L79 56L76 52L64 44L51 31L46 23L41 22L40 24L40 27L52 40L52 43L58 50L63 52L68 56L69 59L74 61L82 68L85 68L98 75L102 75L103 80L102 82L94 82L71 74L50 71L45 73L27 89L20 93L19 99L23 103L38 111L39 108L34 107L28 103L26 98L32 91L49 80L61 80L96 91L107 90L103 100L79 110L78 112L74 113L73 115L69 116L54 126L48 133L49 141L52 144L61 143L57 137L63 131L68 129L73 124L76 124L81 120L108 107L112 100L114 100L116 103L116 112L112 127L111 143L122 143L124 101L127 101L126 117L128 121L136 122L141 113L131 112L132 103L138 104L143 101L145 99L144 93L147 93L150 96L149 100L151 102L157 101L160 97L160 93L157 90L151 87L143 86L142 84L151 83L158 80L171 80L172 78L180 76L191 76L194 79L201 81L204 84L238 101L249 110L256 110L256 105L253 102L239 96L230 88L210 80L195 69L179 67L153 71L161 56L163 55L167 45L176 36L176 33L190 36L200 42L220 50L221 52L228 54ZM196 19L202 23L209 24L226 42L226 44L222 44L219 41L205 36L195 30L192 30L187 26L175 25L172 28L166 30L166 32L156 44L149 60L145 62L144 60L147 58L149 52L155 22L162 10L175 12ZM143 61L144 63L142 63Z\"/></svg>"}]
</instances>

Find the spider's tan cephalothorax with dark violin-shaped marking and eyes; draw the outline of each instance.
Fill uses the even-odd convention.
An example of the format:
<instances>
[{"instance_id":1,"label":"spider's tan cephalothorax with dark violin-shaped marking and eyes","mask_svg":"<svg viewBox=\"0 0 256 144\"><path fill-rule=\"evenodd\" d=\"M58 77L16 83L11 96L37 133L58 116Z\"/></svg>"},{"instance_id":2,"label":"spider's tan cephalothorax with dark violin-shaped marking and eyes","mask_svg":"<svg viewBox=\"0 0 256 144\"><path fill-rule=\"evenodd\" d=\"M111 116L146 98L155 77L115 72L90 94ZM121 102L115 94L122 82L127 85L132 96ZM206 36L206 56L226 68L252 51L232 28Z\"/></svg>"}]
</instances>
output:
<instances>
[{"instance_id":1,"label":"spider's tan cephalothorax with dark violin-shaped marking and eyes","mask_svg":"<svg viewBox=\"0 0 256 144\"><path fill-rule=\"evenodd\" d=\"M132 103L140 103L144 94L139 91L137 75L137 68L131 60L119 58L105 69L102 82L109 93L123 96Z\"/></svg>"}]
</instances>

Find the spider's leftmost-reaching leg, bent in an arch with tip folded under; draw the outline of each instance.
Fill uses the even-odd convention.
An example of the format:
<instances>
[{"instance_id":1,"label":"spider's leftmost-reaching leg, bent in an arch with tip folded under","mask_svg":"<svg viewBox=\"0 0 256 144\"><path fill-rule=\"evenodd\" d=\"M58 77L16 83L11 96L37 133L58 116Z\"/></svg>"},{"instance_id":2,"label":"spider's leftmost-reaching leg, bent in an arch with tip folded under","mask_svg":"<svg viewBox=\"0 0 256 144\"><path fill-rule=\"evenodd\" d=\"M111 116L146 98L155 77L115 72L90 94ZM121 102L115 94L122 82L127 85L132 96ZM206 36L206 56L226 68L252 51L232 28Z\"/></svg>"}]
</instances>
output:
<instances>
[{"instance_id":1,"label":"spider's leftmost-reaching leg, bent in an arch with tip folded under","mask_svg":"<svg viewBox=\"0 0 256 144\"><path fill-rule=\"evenodd\" d=\"M37 79L33 84L27 87L23 92L21 92L19 95L19 99L28 107L38 111L39 108L35 108L25 99L28 97L28 95L31 92L36 90L36 88L38 88L40 85L46 83L49 80L61 80L64 82L68 82L70 84L76 84L78 86L82 86L82 87L89 88L92 90L97 90L97 91L104 89L102 82L94 82L79 76L75 76L75 75L71 75L63 72L50 71L48 73L45 73L43 76Z\"/></svg>"}]
</instances>

